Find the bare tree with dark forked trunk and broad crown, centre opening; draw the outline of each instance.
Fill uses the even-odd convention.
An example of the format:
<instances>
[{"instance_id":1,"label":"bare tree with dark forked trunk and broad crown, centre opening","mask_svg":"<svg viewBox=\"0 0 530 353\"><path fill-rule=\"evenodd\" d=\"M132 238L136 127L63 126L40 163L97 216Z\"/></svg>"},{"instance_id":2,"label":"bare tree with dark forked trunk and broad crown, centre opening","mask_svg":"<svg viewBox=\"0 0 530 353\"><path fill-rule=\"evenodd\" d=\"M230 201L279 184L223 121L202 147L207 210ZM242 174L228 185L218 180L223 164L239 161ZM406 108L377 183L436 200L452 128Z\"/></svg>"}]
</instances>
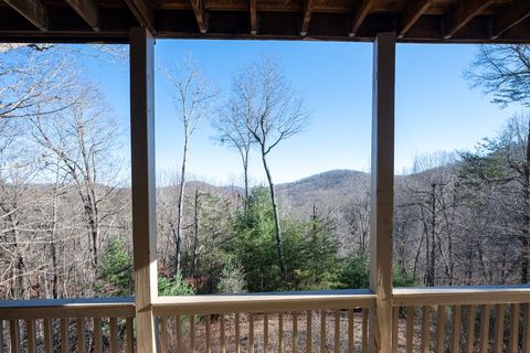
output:
<instances>
[{"instance_id":1,"label":"bare tree with dark forked trunk and broad crown, centre opening","mask_svg":"<svg viewBox=\"0 0 530 353\"><path fill-rule=\"evenodd\" d=\"M261 153L274 212L278 264L285 277L282 228L268 156L279 142L300 132L309 122L305 104L287 82L276 60L250 63L233 82L233 114L241 116ZM240 118L239 118L240 119Z\"/></svg>"}]
</instances>

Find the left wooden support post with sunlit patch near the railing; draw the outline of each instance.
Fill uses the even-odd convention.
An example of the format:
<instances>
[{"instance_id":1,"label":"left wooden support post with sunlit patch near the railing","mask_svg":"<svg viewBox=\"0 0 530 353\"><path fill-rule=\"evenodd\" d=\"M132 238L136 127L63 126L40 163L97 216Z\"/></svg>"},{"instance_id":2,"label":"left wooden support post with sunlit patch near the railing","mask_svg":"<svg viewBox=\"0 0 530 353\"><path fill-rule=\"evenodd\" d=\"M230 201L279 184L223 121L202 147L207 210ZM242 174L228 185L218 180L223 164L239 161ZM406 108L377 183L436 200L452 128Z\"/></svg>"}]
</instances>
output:
<instances>
[{"instance_id":1,"label":"left wooden support post with sunlit patch near the railing","mask_svg":"<svg viewBox=\"0 0 530 353\"><path fill-rule=\"evenodd\" d=\"M158 297L155 194L155 39L130 30L130 142L137 351L156 352L151 303Z\"/></svg>"}]
</instances>

